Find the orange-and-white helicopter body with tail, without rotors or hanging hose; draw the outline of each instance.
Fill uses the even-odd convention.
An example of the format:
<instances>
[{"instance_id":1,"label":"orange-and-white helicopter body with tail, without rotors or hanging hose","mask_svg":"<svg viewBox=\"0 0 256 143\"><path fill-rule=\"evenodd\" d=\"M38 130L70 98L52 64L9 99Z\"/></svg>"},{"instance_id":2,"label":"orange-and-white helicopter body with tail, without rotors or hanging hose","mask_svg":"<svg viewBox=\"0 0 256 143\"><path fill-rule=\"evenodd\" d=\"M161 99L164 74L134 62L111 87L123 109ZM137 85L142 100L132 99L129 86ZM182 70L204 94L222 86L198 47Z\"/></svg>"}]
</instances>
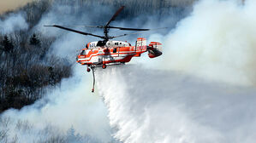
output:
<instances>
[{"instance_id":1,"label":"orange-and-white helicopter body with tail, without rotors or hanging hose","mask_svg":"<svg viewBox=\"0 0 256 143\"><path fill-rule=\"evenodd\" d=\"M129 62L133 57L140 57L140 54L153 49L150 44L146 45L146 38L138 38L136 45L122 41L107 41L100 45L102 41L86 44L86 49L82 49L77 55L77 62L87 66L106 66L110 64L122 64ZM158 48L161 43L155 43ZM157 47L156 47L157 48ZM160 50L158 50L160 52ZM162 52L155 54L155 57ZM152 57L153 58L153 57Z\"/></svg>"}]
</instances>

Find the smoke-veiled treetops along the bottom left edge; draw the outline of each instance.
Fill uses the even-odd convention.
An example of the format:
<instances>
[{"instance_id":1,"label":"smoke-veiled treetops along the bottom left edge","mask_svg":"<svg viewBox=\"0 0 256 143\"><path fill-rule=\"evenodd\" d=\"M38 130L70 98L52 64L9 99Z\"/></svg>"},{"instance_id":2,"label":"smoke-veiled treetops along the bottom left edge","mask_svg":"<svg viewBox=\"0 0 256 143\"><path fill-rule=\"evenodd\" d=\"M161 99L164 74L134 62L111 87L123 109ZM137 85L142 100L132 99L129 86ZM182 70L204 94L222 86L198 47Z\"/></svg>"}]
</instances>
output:
<instances>
[{"instance_id":1,"label":"smoke-veiled treetops along the bottom left edge","mask_svg":"<svg viewBox=\"0 0 256 143\"><path fill-rule=\"evenodd\" d=\"M9 117L0 117L0 142L17 143L24 141L23 135L27 135L27 142L33 140L35 143L103 143L105 140L98 140L92 135L77 134L71 127L67 132L62 132L51 124L43 129L35 129L32 123L27 120L14 121ZM22 140L23 139L23 140ZM120 143L114 138L110 143Z\"/></svg>"}]
</instances>

